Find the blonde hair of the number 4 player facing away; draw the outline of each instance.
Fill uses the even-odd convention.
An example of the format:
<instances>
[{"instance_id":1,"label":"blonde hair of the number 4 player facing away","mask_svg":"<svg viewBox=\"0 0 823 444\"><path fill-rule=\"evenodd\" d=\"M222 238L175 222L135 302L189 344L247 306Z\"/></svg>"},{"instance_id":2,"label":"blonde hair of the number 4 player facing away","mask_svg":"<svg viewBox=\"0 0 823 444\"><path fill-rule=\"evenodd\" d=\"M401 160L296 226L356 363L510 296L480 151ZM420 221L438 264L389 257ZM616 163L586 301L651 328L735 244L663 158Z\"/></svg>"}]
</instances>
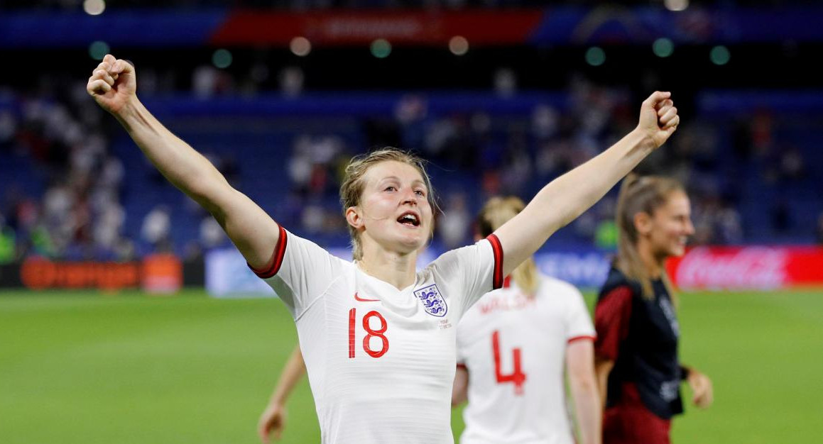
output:
<instances>
[{"instance_id":1,"label":"blonde hair of the number 4 player facing away","mask_svg":"<svg viewBox=\"0 0 823 444\"><path fill-rule=\"evenodd\" d=\"M486 205L480 210L477 215L477 232L486 237L494 233L495 229L499 229L501 225L505 224L509 219L517 215L526 204L518 197L492 197L486 201ZM529 257L522 264L512 271L512 280L523 292L529 297L537 293L537 286L540 280L537 275L537 264L533 257Z\"/></svg>"}]
</instances>

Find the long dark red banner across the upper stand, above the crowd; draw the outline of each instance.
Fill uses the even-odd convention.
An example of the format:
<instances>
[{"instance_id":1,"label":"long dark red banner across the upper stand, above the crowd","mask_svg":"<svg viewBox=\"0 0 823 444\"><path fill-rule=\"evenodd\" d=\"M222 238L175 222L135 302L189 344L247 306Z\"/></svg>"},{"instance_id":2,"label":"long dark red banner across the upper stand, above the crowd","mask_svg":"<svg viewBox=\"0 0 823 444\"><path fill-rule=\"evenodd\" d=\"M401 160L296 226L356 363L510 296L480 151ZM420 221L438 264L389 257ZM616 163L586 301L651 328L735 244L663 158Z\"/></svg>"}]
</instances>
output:
<instances>
[{"instance_id":1,"label":"long dark red banner across the upper stand, above the crowd","mask_svg":"<svg viewBox=\"0 0 823 444\"><path fill-rule=\"evenodd\" d=\"M212 44L287 45L295 37L312 44L445 45L459 35L469 44L522 44L537 29L543 10L234 12L212 35Z\"/></svg>"}]
</instances>

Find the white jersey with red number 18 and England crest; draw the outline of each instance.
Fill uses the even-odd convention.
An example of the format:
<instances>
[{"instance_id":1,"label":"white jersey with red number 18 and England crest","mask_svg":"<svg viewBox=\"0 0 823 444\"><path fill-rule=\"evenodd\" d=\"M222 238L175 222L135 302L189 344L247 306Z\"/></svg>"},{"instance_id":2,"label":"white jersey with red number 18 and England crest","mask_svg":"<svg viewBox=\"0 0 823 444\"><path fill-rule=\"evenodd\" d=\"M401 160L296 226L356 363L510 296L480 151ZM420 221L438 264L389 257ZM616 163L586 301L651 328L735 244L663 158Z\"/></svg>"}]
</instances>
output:
<instances>
[{"instance_id":1,"label":"white jersey with red number 18 and England crest","mask_svg":"<svg viewBox=\"0 0 823 444\"><path fill-rule=\"evenodd\" d=\"M322 441L453 442L457 325L502 285L500 241L446 252L396 289L285 229L280 236L272 266L256 272L295 318Z\"/></svg>"}]
</instances>

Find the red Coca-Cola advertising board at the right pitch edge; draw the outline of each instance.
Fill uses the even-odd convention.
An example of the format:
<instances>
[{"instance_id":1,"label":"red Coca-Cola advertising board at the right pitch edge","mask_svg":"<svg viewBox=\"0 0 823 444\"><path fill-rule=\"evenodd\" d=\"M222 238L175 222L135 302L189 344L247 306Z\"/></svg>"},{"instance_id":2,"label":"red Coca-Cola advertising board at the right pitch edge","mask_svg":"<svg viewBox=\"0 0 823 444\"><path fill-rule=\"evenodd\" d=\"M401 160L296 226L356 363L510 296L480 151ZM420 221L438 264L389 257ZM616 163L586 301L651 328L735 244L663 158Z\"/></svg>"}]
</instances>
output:
<instances>
[{"instance_id":1,"label":"red Coca-Cola advertising board at the right pitch edge","mask_svg":"<svg viewBox=\"0 0 823 444\"><path fill-rule=\"evenodd\" d=\"M696 247L667 271L685 290L823 286L823 247Z\"/></svg>"}]
</instances>

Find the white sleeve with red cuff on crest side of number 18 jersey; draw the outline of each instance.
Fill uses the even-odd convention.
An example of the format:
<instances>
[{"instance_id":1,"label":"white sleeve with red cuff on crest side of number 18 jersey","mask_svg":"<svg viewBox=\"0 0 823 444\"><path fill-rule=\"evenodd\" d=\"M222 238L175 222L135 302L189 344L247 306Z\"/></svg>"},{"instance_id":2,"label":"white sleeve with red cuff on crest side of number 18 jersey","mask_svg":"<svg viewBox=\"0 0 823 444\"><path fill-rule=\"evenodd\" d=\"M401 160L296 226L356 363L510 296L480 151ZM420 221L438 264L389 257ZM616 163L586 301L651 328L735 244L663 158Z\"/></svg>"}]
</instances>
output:
<instances>
[{"instance_id":1,"label":"white sleeve with red cuff on crest side of number 18 jersey","mask_svg":"<svg viewBox=\"0 0 823 444\"><path fill-rule=\"evenodd\" d=\"M430 265L465 313L483 294L503 286L503 248L494 234L474 245L444 252Z\"/></svg>"}]
</instances>

